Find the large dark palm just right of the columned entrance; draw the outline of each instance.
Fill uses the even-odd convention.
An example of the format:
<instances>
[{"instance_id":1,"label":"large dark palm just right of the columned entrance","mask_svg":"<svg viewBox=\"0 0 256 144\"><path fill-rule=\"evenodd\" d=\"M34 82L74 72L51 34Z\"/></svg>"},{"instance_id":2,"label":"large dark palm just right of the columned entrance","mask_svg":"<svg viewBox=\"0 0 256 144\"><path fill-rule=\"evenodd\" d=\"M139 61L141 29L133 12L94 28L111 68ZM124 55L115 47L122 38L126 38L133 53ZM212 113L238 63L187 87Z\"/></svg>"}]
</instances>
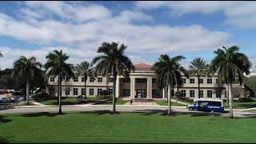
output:
<instances>
[{"instance_id":1,"label":"large dark palm just right of the columned entrance","mask_svg":"<svg viewBox=\"0 0 256 144\"><path fill-rule=\"evenodd\" d=\"M158 90L162 90L165 87L168 87L168 114L171 114L171 99L170 99L170 90L174 89L174 86L182 78L182 73L185 73L185 69L180 65L184 57L182 55L175 56L170 58L167 54L162 54L158 58L158 62L154 63L154 70L157 74L158 79Z\"/></svg>"}]
</instances>

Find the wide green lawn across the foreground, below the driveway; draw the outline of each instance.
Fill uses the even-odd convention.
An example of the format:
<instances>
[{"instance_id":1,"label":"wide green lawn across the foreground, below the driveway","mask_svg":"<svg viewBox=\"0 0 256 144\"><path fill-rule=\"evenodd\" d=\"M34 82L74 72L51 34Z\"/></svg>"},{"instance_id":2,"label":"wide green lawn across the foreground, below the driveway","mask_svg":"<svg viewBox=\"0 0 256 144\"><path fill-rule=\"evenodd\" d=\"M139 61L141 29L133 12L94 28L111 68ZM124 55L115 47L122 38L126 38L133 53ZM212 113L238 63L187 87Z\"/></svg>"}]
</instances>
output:
<instances>
[{"instance_id":1,"label":"wide green lawn across the foreground, below the driveway","mask_svg":"<svg viewBox=\"0 0 256 144\"><path fill-rule=\"evenodd\" d=\"M0 141L7 142L256 142L255 131L254 118L155 111L0 116Z\"/></svg>"}]
</instances>

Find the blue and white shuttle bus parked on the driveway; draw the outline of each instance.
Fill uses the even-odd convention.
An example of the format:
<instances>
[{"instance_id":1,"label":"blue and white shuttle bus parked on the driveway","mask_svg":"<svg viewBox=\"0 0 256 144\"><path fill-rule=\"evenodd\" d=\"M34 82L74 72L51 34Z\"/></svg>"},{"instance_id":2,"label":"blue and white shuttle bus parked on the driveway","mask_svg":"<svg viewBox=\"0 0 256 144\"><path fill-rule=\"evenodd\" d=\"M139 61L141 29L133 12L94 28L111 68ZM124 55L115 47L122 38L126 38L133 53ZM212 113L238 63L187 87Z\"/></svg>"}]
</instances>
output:
<instances>
[{"instance_id":1,"label":"blue and white shuttle bus parked on the driveway","mask_svg":"<svg viewBox=\"0 0 256 144\"><path fill-rule=\"evenodd\" d=\"M187 106L189 110L224 112L222 99L195 98L194 104Z\"/></svg>"}]
</instances>

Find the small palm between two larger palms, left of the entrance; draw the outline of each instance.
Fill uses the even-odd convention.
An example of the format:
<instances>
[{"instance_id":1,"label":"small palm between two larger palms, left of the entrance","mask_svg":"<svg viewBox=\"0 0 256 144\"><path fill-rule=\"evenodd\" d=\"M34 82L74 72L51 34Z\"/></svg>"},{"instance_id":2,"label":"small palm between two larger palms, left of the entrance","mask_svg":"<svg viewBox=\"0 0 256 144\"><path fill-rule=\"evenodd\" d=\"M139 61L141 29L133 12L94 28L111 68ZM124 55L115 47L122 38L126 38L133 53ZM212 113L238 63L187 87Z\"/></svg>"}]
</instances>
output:
<instances>
[{"instance_id":1,"label":"small palm between two larger palms, left of the entrance","mask_svg":"<svg viewBox=\"0 0 256 144\"><path fill-rule=\"evenodd\" d=\"M87 78L94 78L94 68L90 66L90 62L81 62L74 67L75 74L82 75L85 78L85 91L86 91L86 82ZM86 98L86 92L85 92Z\"/></svg>"}]
</instances>

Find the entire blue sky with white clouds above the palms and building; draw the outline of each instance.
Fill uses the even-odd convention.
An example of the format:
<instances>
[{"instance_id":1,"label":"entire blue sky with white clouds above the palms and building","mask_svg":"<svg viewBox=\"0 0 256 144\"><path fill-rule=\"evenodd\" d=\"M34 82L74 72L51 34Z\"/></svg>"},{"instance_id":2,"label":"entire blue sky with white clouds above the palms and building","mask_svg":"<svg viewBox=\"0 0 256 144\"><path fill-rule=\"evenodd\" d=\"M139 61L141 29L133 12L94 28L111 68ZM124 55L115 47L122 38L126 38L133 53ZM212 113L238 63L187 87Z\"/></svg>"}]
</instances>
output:
<instances>
[{"instance_id":1,"label":"entire blue sky with white clouds above the palms and building","mask_svg":"<svg viewBox=\"0 0 256 144\"><path fill-rule=\"evenodd\" d=\"M0 2L0 68L21 55L46 62L63 50L68 62L91 61L102 42L119 42L134 64L161 54L210 62L214 50L239 46L256 66L256 2Z\"/></svg>"}]
</instances>

